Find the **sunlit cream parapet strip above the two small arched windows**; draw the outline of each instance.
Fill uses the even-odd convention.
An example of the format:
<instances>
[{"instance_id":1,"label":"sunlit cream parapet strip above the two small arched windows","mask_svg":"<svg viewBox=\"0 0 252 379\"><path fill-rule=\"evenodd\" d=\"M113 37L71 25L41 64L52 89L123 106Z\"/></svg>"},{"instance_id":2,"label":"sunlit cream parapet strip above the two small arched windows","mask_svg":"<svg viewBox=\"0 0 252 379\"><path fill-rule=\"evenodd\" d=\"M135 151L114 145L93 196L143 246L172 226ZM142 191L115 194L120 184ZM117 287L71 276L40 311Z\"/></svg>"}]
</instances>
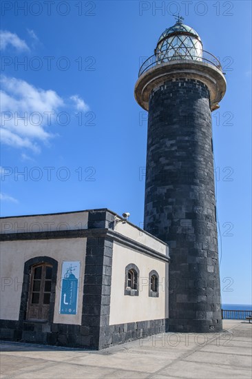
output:
<instances>
[{"instance_id":1,"label":"sunlit cream parapet strip above the two small arched windows","mask_svg":"<svg viewBox=\"0 0 252 379\"><path fill-rule=\"evenodd\" d=\"M159 252L160 254L166 254L167 245L165 245L165 243L127 222L123 223L120 221L119 223L116 223L114 230L120 234L123 234L123 236L127 236L142 245L156 250L156 252Z\"/></svg>"}]
</instances>

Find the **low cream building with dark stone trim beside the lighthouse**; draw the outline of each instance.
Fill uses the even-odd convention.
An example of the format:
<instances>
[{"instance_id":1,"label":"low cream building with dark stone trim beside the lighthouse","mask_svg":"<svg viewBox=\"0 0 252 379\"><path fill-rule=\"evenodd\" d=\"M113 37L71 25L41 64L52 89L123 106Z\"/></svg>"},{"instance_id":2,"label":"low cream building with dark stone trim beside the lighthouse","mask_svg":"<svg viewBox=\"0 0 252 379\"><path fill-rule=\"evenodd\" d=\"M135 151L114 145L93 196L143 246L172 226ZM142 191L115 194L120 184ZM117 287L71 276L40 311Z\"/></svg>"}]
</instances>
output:
<instances>
[{"instance_id":1,"label":"low cream building with dark stone trim beside the lighthouse","mask_svg":"<svg viewBox=\"0 0 252 379\"><path fill-rule=\"evenodd\" d=\"M168 264L108 209L1 218L1 339L103 349L165 331Z\"/></svg>"}]
</instances>

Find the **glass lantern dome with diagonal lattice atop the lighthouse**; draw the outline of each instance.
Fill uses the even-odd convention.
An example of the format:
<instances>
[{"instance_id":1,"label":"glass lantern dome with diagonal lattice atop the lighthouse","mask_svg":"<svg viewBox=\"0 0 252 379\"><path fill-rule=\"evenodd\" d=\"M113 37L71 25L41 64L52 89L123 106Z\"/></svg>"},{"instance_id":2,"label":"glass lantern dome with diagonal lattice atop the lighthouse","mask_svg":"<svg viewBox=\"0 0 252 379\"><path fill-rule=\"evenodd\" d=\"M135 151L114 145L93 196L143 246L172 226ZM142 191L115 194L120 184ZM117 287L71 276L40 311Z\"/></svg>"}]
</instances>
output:
<instances>
[{"instance_id":1,"label":"glass lantern dome with diagonal lattice atop the lighthouse","mask_svg":"<svg viewBox=\"0 0 252 379\"><path fill-rule=\"evenodd\" d=\"M181 22L182 17L177 17L176 24L167 28L158 39L155 49L156 61L202 61L203 46L200 36L193 28Z\"/></svg>"}]
</instances>

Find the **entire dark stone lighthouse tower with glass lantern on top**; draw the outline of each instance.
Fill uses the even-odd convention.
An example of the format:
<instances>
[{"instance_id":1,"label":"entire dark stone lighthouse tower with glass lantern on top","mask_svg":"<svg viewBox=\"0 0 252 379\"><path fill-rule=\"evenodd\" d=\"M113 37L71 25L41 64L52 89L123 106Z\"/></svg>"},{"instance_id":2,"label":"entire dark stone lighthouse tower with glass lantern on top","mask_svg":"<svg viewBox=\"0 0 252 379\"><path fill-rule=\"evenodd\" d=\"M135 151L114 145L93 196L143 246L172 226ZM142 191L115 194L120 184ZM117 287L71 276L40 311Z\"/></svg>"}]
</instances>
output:
<instances>
[{"instance_id":1,"label":"entire dark stone lighthouse tower with glass lantern on top","mask_svg":"<svg viewBox=\"0 0 252 379\"><path fill-rule=\"evenodd\" d=\"M226 81L180 19L162 33L135 87L149 111L144 223L170 247L169 331L221 331L211 111Z\"/></svg>"}]
</instances>

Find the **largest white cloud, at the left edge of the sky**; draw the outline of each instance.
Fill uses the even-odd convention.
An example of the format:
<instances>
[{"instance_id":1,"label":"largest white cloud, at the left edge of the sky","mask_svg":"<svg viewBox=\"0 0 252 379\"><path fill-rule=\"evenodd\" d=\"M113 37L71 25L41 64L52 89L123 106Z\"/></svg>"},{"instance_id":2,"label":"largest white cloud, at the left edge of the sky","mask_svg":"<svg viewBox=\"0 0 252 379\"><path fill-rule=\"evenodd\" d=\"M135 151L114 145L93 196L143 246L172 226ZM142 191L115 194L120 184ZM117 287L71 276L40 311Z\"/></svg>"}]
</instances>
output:
<instances>
[{"instance_id":1,"label":"largest white cloud, at the left edge of the sky","mask_svg":"<svg viewBox=\"0 0 252 379\"><path fill-rule=\"evenodd\" d=\"M65 105L63 99L53 90L35 88L21 79L2 76L1 85L2 142L39 152L36 141L46 142L52 137L45 128Z\"/></svg>"}]
</instances>

